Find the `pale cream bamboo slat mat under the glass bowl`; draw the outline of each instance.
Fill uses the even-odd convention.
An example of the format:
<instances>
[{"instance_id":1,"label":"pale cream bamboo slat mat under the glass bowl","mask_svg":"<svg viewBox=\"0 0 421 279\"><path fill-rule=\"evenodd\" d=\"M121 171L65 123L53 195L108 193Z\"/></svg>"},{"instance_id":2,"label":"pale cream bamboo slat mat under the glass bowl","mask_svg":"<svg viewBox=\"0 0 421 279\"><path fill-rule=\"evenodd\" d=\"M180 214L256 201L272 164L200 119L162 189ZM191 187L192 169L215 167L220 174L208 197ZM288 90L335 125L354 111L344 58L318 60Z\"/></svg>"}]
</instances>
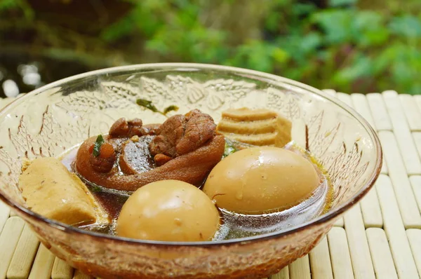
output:
<instances>
[{"instance_id":1,"label":"pale cream bamboo slat mat under the glass bowl","mask_svg":"<svg viewBox=\"0 0 421 279\"><path fill-rule=\"evenodd\" d=\"M306 257L272 279L421 278L421 95L325 92L377 130L385 163L375 187ZM0 107L10 100L0 100ZM0 279L90 278L55 258L0 203Z\"/></svg>"}]
</instances>

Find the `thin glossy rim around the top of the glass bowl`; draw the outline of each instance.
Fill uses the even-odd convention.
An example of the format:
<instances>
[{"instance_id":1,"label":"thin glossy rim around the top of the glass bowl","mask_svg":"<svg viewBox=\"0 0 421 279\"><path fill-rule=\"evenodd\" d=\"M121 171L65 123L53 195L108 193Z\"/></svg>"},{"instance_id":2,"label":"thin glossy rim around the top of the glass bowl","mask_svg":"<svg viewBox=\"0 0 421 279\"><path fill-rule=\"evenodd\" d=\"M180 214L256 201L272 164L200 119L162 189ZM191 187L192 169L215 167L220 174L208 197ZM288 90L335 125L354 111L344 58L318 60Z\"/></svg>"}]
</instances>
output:
<instances>
[{"instance_id":1,"label":"thin glossy rim around the top of the glass bowl","mask_svg":"<svg viewBox=\"0 0 421 279\"><path fill-rule=\"evenodd\" d=\"M33 95L38 95L39 93L43 93L46 90L50 90L58 86L64 86L66 83L69 83L70 81L77 81L77 80L85 79L85 78L96 76L96 75L107 75L107 74L115 74L118 72L131 72L131 71L147 72L147 70L153 70L153 71L159 70L159 72L170 71L170 70L178 71L178 72L214 70L218 72L223 72L223 71L232 72L235 74L246 74L246 75L250 74L252 76L249 76L249 77L252 79L266 81L266 82L269 81L270 83L281 82L289 86L294 86L296 88L307 90L310 93L313 93L315 95L319 95L319 97L322 97L323 99L333 102L333 104L338 105L341 109L344 109L349 114L351 114L356 119L356 121L359 121L359 123L363 126L363 128L365 128L366 132L368 132L368 135L370 135L370 137L373 140L374 148L377 153L374 172L370 175L368 182L363 187L361 187L361 189L357 193L355 193L354 196L352 196L352 198L349 198L349 200L346 203L339 206L338 208L335 208L335 210L332 210L331 212L328 212L315 219L310 220L309 222L305 222L297 226L290 227L283 231L275 231L272 233L265 233L263 235L250 236L247 238L236 238L236 239L231 239L231 240L218 240L218 241L175 242L175 241L159 241L159 240L138 240L134 238L123 238L120 236L110 236L105 233L96 233L93 231L86 231L83 229L76 228L74 226L64 224L62 222L55 221L53 219L48 219L46 217L43 217L35 212L32 212L26 207L20 205L19 203L15 202L15 200L6 198L3 192L3 189L1 188L0 188L0 200L3 200L7 205L9 205L10 207L13 207L15 210L18 210L18 212L20 212L22 215L26 215L26 217L29 217L30 219L36 219L37 221L42 222L46 224L47 226L52 226L55 229L60 229L61 231L66 231L67 233L88 235L95 238L105 238L105 239L114 240L117 242L133 243L137 245L159 245L159 246L174 246L174 247L189 246L189 247L209 247L210 248L210 247L215 247L219 245L238 245L238 244L242 245L242 244L246 244L250 242L256 243L263 240L270 240L272 238L281 238L283 236L288 236L292 233L298 233L299 231L309 229L312 226L326 223L334 219L335 217L338 217L343 212L348 210L350 207L358 203L359 200L361 200L361 198L363 198L363 196L365 196L366 193L371 189L377 177L380 175L380 170L382 168L382 147L380 145L380 140L377 137L377 133L375 132L373 127L357 111L349 107L344 102L338 100L337 98L331 95L328 95L328 93L324 93L322 90L313 88L312 86L307 86L305 83L293 81L291 79L287 79L282 76L276 76L274 74L267 74L265 72L259 72L259 71L255 71L251 69L243 69L239 67L222 66L222 65L217 65L217 64L199 64L199 63L151 63L151 64L132 64L132 65L127 65L127 66L98 69L91 72L85 72L83 74L69 76L65 79L60 79L59 81L48 83L47 85L37 88L36 90L32 90L31 92L26 93L25 95L22 95L21 97L16 98L15 100L13 100L13 102L7 104L4 108L0 109L0 118L4 117L4 114L6 111L8 111L8 108L12 107L14 104L18 102L23 102L27 98L30 98Z\"/></svg>"}]
</instances>

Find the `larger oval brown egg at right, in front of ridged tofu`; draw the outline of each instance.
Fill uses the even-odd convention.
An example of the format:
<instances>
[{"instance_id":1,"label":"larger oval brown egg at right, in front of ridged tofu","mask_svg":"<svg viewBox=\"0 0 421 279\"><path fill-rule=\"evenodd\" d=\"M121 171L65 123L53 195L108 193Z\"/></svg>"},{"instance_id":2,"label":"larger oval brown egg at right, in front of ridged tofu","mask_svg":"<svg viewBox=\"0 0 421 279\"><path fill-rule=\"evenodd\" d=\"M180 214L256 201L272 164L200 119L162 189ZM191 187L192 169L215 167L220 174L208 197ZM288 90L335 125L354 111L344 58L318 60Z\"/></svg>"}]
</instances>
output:
<instances>
[{"instance_id":1,"label":"larger oval brown egg at right, in front of ridged tofu","mask_svg":"<svg viewBox=\"0 0 421 279\"><path fill-rule=\"evenodd\" d=\"M319 182L314 166L302 156L278 147L253 147L220 161L203 191L225 210L262 214L298 205Z\"/></svg>"}]
</instances>

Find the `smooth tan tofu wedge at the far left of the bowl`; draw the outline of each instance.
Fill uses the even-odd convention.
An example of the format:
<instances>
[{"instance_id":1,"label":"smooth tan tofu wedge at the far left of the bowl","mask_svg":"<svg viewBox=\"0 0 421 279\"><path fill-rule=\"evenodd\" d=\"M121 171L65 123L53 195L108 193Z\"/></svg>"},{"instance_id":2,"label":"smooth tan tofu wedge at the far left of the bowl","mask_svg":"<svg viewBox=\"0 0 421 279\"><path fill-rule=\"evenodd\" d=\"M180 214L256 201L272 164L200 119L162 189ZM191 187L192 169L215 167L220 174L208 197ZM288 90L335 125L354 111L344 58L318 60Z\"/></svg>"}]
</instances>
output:
<instances>
[{"instance_id":1,"label":"smooth tan tofu wedge at the far left of the bowl","mask_svg":"<svg viewBox=\"0 0 421 279\"><path fill-rule=\"evenodd\" d=\"M39 215L74 226L109 223L86 185L57 158L25 164L19 186L27 207Z\"/></svg>"}]
</instances>

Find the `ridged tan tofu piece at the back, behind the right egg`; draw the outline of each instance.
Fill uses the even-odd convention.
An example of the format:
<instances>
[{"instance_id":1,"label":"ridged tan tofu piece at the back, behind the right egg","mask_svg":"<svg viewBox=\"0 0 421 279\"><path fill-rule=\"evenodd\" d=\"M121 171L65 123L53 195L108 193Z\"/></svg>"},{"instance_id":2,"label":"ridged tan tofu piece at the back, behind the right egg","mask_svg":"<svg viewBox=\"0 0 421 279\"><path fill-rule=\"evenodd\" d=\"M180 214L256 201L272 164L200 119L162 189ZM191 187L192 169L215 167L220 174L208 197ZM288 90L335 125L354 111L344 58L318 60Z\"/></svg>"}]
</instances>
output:
<instances>
[{"instance_id":1,"label":"ridged tan tofu piece at the back, behind the right egg","mask_svg":"<svg viewBox=\"0 0 421 279\"><path fill-rule=\"evenodd\" d=\"M225 137L258 146L284 147L291 141L292 123L269 109L228 109L217 130Z\"/></svg>"}]
</instances>

